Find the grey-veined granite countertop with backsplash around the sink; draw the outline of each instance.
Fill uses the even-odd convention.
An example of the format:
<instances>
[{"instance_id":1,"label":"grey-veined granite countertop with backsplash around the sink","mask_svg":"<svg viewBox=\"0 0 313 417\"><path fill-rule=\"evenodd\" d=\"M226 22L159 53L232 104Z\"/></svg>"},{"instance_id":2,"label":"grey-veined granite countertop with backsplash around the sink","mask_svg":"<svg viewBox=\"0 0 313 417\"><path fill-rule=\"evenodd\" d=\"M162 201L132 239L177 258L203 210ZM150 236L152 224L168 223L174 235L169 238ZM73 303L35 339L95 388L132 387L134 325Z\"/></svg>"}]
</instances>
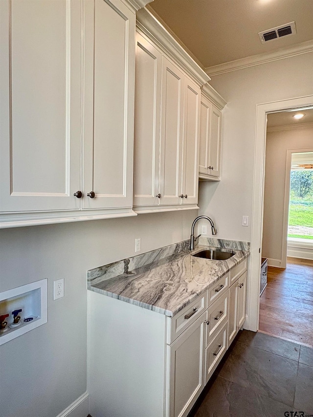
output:
<instances>
[{"instance_id":1,"label":"grey-veined granite countertop with backsplash around the sink","mask_svg":"<svg viewBox=\"0 0 313 417\"><path fill-rule=\"evenodd\" d=\"M206 244L211 241L214 246ZM88 289L172 317L250 253L248 242L236 242L235 248L215 241L208 239L192 254L208 247L224 247L235 255L225 261L193 257L188 241L184 241L89 270Z\"/></svg>"}]
</instances>

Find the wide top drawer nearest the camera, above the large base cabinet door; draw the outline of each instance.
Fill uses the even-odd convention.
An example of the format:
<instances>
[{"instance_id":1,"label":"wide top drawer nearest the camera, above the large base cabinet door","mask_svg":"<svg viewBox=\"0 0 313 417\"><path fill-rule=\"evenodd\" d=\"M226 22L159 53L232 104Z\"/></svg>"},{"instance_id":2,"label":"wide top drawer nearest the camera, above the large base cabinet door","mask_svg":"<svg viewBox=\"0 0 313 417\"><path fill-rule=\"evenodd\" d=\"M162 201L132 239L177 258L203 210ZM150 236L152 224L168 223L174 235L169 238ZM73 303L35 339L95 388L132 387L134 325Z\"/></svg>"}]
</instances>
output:
<instances>
[{"instance_id":1,"label":"wide top drawer nearest the camera, above the large base cabinet door","mask_svg":"<svg viewBox=\"0 0 313 417\"><path fill-rule=\"evenodd\" d=\"M195 301L184 307L170 319L167 343L170 345L188 326L191 325L207 308L207 291Z\"/></svg>"}]
</instances>

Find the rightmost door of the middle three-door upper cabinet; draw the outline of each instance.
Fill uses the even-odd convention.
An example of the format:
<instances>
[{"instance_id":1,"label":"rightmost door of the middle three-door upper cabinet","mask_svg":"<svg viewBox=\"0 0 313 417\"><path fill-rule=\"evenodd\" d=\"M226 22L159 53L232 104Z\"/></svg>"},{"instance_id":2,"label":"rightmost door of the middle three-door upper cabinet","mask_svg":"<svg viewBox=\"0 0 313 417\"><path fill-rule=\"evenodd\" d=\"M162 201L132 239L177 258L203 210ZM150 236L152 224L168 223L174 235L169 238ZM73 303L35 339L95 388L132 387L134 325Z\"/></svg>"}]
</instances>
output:
<instances>
[{"instance_id":1,"label":"rightmost door of the middle three-door upper cabinet","mask_svg":"<svg viewBox=\"0 0 313 417\"><path fill-rule=\"evenodd\" d=\"M198 149L201 90L185 76L184 134L181 198L183 204L198 202Z\"/></svg>"}]
</instances>

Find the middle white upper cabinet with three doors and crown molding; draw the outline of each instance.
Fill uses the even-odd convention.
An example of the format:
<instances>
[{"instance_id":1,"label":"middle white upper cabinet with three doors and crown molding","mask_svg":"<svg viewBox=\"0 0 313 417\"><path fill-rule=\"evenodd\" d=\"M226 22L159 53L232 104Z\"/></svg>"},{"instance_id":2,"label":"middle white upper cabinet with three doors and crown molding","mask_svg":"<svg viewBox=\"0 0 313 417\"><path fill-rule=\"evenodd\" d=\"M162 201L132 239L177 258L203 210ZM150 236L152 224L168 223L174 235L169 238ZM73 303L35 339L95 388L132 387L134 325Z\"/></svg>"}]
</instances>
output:
<instances>
[{"instance_id":1,"label":"middle white upper cabinet with three doors and crown molding","mask_svg":"<svg viewBox=\"0 0 313 417\"><path fill-rule=\"evenodd\" d=\"M134 210L197 208L200 87L209 79L146 10L137 13Z\"/></svg>"}]
</instances>

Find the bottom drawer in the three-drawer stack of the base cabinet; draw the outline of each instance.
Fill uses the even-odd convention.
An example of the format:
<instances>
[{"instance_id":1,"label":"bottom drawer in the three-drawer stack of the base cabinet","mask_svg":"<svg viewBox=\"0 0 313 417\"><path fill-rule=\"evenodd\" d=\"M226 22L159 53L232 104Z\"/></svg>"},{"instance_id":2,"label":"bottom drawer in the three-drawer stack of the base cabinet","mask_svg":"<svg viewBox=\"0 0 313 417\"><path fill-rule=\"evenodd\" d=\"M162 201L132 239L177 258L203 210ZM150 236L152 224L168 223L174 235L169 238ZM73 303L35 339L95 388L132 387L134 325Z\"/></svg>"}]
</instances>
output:
<instances>
[{"instance_id":1,"label":"bottom drawer in the three-drawer stack of the base cabinet","mask_svg":"<svg viewBox=\"0 0 313 417\"><path fill-rule=\"evenodd\" d=\"M222 359L227 348L227 322L205 350L205 384Z\"/></svg>"}]
</instances>

